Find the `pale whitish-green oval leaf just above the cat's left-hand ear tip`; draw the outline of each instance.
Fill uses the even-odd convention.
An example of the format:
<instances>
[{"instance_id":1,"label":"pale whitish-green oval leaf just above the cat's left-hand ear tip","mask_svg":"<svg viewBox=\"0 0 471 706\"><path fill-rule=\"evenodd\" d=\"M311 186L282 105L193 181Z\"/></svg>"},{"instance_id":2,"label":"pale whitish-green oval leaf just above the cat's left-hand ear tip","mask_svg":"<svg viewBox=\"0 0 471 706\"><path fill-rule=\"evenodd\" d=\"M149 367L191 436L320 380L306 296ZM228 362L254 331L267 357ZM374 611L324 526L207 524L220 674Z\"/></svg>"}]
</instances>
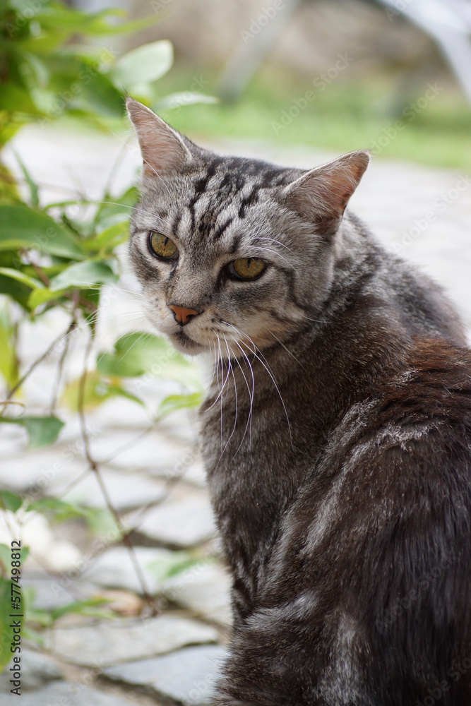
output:
<instances>
[{"instance_id":1,"label":"pale whitish-green oval leaf just above the cat's left-hand ear tip","mask_svg":"<svg viewBox=\"0 0 471 706\"><path fill-rule=\"evenodd\" d=\"M133 86L157 80L173 64L172 44L167 40L143 44L121 56L110 72L117 88L131 90Z\"/></svg>"}]
</instances>

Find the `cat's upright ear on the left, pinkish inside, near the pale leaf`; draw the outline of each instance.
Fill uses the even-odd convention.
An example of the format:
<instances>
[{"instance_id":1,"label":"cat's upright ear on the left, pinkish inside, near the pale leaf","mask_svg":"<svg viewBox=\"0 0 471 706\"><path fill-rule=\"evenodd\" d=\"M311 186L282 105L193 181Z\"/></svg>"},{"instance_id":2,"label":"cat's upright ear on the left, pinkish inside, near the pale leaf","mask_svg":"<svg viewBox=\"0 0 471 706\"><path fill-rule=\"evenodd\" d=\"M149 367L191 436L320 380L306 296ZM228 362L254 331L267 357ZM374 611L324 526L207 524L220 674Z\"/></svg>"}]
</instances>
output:
<instances>
[{"instance_id":1,"label":"cat's upright ear on the left, pinkish inside, near the pale leaf","mask_svg":"<svg viewBox=\"0 0 471 706\"><path fill-rule=\"evenodd\" d=\"M144 174L160 177L191 160L191 152L179 133L138 100L128 98L126 108L136 130L144 162Z\"/></svg>"}]
</instances>

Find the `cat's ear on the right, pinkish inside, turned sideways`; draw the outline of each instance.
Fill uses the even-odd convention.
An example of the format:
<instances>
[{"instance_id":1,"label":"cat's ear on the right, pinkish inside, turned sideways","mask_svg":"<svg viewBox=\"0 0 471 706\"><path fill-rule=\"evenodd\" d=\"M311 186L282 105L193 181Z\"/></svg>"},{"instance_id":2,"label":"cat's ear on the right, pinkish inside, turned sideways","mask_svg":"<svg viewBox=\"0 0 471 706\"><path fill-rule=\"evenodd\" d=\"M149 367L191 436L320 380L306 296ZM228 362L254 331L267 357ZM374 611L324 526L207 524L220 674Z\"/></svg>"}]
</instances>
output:
<instances>
[{"instance_id":1,"label":"cat's ear on the right, pinkish inside, turned sideways","mask_svg":"<svg viewBox=\"0 0 471 706\"><path fill-rule=\"evenodd\" d=\"M319 233L335 233L369 160L369 152L359 150L311 169L286 187L288 205L311 220Z\"/></svg>"}]
</instances>

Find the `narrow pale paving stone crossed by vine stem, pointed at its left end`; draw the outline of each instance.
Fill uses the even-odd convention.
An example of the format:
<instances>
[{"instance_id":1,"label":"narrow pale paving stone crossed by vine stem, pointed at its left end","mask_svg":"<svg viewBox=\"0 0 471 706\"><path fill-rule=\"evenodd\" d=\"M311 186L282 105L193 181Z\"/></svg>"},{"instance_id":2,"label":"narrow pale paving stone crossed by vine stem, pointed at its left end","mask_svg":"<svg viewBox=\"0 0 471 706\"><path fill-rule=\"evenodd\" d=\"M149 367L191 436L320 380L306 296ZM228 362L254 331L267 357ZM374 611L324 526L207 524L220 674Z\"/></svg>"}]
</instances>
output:
<instances>
[{"instance_id":1,"label":"narrow pale paving stone crossed by vine stem, pointed at its left end","mask_svg":"<svg viewBox=\"0 0 471 706\"><path fill-rule=\"evenodd\" d=\"M116 510L150 505L165 496L165 483L162 480L109 469L102 469L100 475ZM73 486L68 493L61 494L61 499L93 508L107 506L100 483L93 472Z\"/></svg>"}]
</instances>

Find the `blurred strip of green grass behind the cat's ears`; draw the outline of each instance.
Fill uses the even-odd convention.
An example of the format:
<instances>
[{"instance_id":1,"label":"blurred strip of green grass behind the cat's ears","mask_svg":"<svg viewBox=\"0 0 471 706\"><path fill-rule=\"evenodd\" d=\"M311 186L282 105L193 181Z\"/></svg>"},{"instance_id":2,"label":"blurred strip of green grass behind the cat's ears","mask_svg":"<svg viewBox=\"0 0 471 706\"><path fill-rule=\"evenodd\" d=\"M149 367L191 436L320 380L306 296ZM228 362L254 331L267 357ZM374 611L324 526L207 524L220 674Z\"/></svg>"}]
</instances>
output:
<instances>
[{"instance_id":1,"label":"blurred strip of green grass behind the cat's ears","mask_svg":"<svg viewBox=\"0 0 471 706\"><path fill-rule=\"evenodd\" d=\"M187 91L201 78L201 72L174 68L160 79L162 95ZM213 77L203 91L215 93ZM193 84L194 85L194 84ZM439 85L443 85L439 82ZM282 112L289 111L294 99L314 90L316 97L284 128ZM398 79L362 78L334 80L322 92L311 81L294 81L291 76L264 69L251 81L242 97L234 103L194 104L167 110L162 116L179 131L198 139L214 137L256 138L280 145L308 145L333 152L374 147L383 137L379 156L427 164L431 167L469 169L471 165L471 106L452 85L415 113L414 119L403 109L424 95L427 83L405 98L398 90ZM394 96L394 97L393 97ZM399 98L400 96L400 98ZM294 111L296 112L296 111ZM401 120L403 129L393 138L390 128Z\"/></svg>"}]
</instances>

